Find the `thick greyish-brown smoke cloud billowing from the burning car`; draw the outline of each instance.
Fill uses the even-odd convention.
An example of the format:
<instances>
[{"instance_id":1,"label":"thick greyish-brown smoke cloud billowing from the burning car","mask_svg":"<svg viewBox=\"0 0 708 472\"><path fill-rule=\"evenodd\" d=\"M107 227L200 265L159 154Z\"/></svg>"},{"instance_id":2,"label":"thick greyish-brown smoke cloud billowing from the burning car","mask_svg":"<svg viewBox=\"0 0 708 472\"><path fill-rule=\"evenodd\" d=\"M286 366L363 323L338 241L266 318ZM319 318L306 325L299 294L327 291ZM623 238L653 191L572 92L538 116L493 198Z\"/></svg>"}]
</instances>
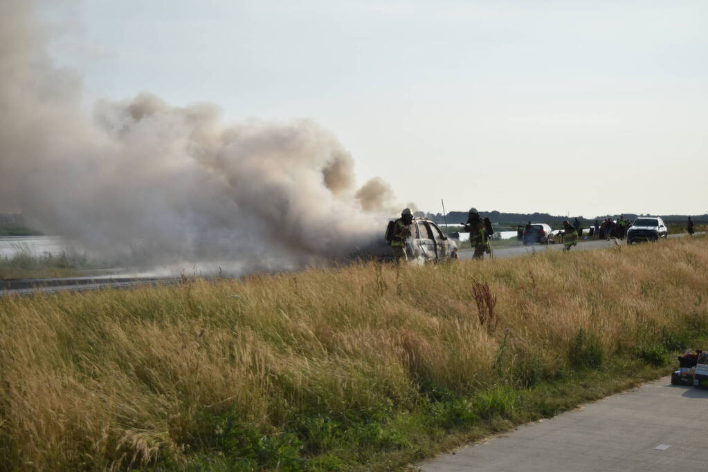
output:
<instances>
[{"instance_id":1,"label":"thick greyish-brown smoke cloud billowing from the burning car","mask_svg":"<svg viewBox=\"0 0 708 472\"><path fill-rule=\"evenodd\" d=\"M0 199L47 234L126 265L239 271L321 264L381 237L391 190L357 189L351 156L313 122L224 124L215 105L150 93L86 116L31 2L4 0L0 18Z\"/></svg>"}]
</instances>

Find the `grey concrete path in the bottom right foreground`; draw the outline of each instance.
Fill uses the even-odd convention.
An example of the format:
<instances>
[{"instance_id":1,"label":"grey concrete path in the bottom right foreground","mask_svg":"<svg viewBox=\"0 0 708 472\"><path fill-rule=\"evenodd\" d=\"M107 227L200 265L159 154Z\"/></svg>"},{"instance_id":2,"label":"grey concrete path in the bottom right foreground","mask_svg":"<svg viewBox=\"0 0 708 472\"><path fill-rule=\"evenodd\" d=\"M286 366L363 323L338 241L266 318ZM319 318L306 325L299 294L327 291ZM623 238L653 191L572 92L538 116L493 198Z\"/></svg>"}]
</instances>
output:
<instances>
[{"instance_id":1,"label":"grey concrete path in the bottom right foreground","mask_svg":"<svg viewBox=\"0 0 708 472\"><path fill-rule=\"evenodd\" d=\"M425 472L708 471L708 390L670 377L442 454Z\"/></svg>"}]
</instances>

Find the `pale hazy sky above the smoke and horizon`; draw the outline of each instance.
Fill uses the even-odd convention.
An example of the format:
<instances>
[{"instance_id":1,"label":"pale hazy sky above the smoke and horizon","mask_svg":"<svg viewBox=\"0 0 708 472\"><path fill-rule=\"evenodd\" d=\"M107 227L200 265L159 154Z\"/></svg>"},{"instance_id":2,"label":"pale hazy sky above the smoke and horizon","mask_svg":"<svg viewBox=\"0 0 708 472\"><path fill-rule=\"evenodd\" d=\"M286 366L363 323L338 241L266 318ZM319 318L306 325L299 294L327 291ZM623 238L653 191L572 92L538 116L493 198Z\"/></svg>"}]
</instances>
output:
<instances>
[{"instance_id":1,"label":"pale hazy sky above the smoke and horizon","mask_svg":"<svg viewBox=\"0 0 708 472\"><path fill-rule=\"evenodd\" d=\"M438 212L705 213L708 1L87 0L43 14L86 107L307 117Z\"/></svg>"}]
</instances>

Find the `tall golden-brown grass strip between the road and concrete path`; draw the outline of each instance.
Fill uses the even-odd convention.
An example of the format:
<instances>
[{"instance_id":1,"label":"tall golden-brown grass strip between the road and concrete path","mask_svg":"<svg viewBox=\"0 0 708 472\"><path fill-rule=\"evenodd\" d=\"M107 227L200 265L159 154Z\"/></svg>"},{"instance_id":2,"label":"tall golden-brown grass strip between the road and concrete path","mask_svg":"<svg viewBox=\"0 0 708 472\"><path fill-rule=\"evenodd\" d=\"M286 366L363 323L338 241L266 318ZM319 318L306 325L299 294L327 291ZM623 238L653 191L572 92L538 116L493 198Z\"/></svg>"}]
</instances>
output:
<instances>
[{"instance_id":1,"label":"tall golden-brown grass strip between the road and concrete path","mask_svg":"<svg viewBox=\"0 0 708 472\"><path fill-rule=\"evenodd\" d=\"M669 372L708 238L0 297L0 471L400 470Z\"/></svg>"}]
</instances>

